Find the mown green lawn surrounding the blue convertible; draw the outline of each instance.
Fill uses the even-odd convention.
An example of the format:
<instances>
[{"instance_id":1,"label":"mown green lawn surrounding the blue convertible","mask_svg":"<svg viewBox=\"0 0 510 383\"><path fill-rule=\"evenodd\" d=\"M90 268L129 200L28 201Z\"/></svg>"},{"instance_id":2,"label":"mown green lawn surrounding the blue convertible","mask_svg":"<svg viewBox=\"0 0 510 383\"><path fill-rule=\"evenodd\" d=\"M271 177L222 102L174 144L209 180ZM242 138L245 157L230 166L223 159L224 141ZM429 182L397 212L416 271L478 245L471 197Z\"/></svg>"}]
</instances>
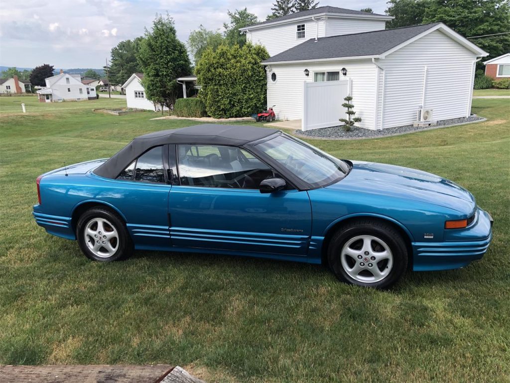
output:
<instances>
[{"instance_id":1,"label":"mown green lawn surrounding the blue convertible","mask_svg":"<svg viewBox=\"0 0 510 383\"><path fill-rule=\"evenodd\" d=\"M340 158L452 179L495 219L481 261L411 272L380 292L339 283L322 266L260 259L137 252L89 261L34 223L35 178L196 123L91 111L125 102L108 99L35 102L22 115L19 99L0 98L0 364L167 363L226 382L510 380L508 100L474 100L483 123L311 141Z\"/></svg>"}]
</instances>

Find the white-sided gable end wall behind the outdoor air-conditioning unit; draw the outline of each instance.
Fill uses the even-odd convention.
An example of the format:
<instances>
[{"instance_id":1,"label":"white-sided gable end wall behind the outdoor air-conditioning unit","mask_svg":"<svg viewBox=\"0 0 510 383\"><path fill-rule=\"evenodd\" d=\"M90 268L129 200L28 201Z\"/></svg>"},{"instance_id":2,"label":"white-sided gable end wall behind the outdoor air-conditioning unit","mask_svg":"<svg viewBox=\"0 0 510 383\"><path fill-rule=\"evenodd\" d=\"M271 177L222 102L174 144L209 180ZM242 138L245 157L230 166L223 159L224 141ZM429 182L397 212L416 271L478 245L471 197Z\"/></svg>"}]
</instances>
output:
<instances>
[{"instance_id":1,"label":"white-sided gable end wall behind the outdoor air-conditioning unit","mask_svg":"<svg viewBox=\"0 0 510 383\"><path fill-rule=\"evenodd\" d=\"M431 32L380 60L380 65L385 68L385 74L381 71L379 76L380 86L381 77L385 76L382 127L391 128L416 121L416 112L423 100L425 66L427 76L423 106L433 109L433 119L468 115L474 60L475 53L440 31ZM381 102L380 91L379 108ZM381 114L377 116L377 128L380 128Z\"/></svg>"}]
</instances>

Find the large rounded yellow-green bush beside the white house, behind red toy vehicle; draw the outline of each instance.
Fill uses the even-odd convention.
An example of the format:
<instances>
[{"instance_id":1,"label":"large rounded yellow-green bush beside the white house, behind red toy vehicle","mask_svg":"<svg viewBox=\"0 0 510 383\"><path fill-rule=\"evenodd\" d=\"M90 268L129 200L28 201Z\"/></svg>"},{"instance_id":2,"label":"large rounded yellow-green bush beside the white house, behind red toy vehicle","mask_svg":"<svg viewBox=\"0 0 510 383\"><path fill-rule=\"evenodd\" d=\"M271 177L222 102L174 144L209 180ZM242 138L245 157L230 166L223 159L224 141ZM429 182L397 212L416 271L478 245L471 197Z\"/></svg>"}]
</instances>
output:
<instances>
[{"instance_id":1,"label":"large rounded yellow-green bush beside the white house, behind red toy vehicle","mask_svg":"<svg viewBox=\"0 0 510 383\"><path fill-rule=\"evenodd\" d=\"M263 46L249 43L206 50L195 72L207 114L244 117L266 109L266 72L260 63L268 58Z\"/></svg>"}]
</instances>

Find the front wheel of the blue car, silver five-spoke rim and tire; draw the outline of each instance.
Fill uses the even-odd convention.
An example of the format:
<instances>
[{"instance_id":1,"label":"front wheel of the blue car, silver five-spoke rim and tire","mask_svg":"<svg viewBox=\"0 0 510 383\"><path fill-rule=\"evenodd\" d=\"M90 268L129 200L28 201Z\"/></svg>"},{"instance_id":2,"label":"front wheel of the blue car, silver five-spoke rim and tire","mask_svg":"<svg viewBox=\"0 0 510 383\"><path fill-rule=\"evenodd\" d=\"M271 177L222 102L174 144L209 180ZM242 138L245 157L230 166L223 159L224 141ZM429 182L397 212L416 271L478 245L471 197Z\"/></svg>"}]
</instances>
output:
<instances>
[{"instance_id":1,"label":"front wheel of the blue car, silver five-spoke rim and tire","mask_svg":"<svg viewBox=\"0 0 510 383\"><path fill-rule=\"evenodd\" d=\"M331 238L328 263L343 282L386 289L407 267L407 249L391 225L360 220L341 227Z\"/></svg>"}]
</instances>

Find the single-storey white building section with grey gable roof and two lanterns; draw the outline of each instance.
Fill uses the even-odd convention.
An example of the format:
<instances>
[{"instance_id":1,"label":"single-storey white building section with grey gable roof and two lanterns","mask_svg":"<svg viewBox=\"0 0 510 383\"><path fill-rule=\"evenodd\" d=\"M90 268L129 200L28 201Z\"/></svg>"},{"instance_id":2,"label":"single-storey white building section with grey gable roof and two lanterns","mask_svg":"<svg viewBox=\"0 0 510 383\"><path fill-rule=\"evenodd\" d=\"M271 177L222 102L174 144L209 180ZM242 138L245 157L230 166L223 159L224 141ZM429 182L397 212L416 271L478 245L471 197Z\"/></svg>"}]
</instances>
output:
<instances>
[{"instance_id":1,"label":"single-storey white building section with grey gable roof and two lanterns","mask_svg":"<svg viewBox=\"0 0 510 383\"><path fill-rule=\"evenodd\" d=\"M267 102L276 105L276 118L301 119L303 130L339 125L345 108L331 103L326 89L333 88L341 92L335 100L348 89L362 118L356 125L367 129L413 124L419 109L428 110L431 121L467 117L475 63L487 55L441 22L309 39L263 62ZM308 97L309 83L323 86L322 95ZM335 110L310 117L326 107ZM320 119L323 113L329 123Z\"/></svg>"}]
</instances>

